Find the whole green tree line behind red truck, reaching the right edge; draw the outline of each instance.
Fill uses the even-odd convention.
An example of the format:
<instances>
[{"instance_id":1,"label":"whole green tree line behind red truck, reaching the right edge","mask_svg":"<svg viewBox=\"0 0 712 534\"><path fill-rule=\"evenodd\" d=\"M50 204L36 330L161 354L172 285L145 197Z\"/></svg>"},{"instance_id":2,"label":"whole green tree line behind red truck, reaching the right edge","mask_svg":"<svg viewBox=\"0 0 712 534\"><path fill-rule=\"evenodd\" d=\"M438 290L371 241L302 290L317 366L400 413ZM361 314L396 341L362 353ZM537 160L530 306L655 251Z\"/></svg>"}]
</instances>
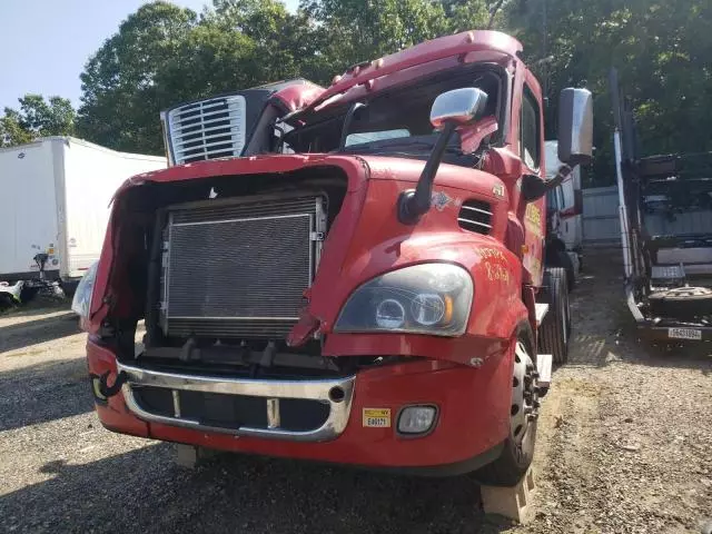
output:
<instances>
[{"instance_id":1,"label":"whole green tree line behind red truck, reaching the right edge","mask_svg":"<svg viewBox=\"0 0 712 534\"><path fill-rule=\"evenodd\" d=\"M180 101L295 77L328 85L350 65L488 26L523 41L548 97L547 138L556 135L561 89L594 92L591 185L614 179L612 66L637 110L645 152L712 149L709 0L301 0L296 13L279 0L214 0L200 16L155 1L87 63L78 130L112 148L160 154L158 113ZM13 116L1 123L6 136L23 135Z\"/></svg>"}]
</instances>

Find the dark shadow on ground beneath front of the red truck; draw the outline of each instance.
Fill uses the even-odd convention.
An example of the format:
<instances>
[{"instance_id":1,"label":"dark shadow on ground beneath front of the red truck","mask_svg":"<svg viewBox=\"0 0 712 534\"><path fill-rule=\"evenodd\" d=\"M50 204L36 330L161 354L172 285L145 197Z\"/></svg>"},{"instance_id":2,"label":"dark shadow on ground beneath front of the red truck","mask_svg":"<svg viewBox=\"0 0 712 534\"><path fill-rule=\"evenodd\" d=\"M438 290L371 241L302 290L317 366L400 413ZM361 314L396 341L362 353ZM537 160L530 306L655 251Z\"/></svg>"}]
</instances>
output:
<instances>
[{"instance_id":1,"label":"dark shadow on ground beneath front of the red truck","mask_svg":"<svg viewBox=\"0 0 712 534\"><path fill-rule=\"evenodd\" d=\"M225 455L196 471L151 445L85 465L46 464L47 482L0 500L7 526L31 532L501 532L469 479L395 477ZM58 525L60 527L58 528Z\"/></svg>"}]
</instances>

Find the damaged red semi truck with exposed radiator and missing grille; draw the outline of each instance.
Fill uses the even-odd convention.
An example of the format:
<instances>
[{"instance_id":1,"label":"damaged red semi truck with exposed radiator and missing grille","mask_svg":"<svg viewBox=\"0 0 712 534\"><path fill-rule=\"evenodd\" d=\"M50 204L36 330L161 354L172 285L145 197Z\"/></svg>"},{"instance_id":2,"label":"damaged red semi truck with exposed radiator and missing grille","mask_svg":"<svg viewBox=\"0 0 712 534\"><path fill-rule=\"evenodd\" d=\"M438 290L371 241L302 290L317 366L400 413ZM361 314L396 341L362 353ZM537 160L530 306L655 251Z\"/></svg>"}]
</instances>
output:
<instances>
[{"instance_id":1,"label":"damaged red semi truck with exposed radiator and missing grille","mask_svg":"<svg viewBox=\"0 0 712 534\"><path fill-rule=\"evenodd\" d=\"M566 89L546 180L521 50L468 31L166 113L174 165L116 194L76 298L101 423L515 484L571 326L545 197L592 149Z\"/></svg>"}]
</instances>

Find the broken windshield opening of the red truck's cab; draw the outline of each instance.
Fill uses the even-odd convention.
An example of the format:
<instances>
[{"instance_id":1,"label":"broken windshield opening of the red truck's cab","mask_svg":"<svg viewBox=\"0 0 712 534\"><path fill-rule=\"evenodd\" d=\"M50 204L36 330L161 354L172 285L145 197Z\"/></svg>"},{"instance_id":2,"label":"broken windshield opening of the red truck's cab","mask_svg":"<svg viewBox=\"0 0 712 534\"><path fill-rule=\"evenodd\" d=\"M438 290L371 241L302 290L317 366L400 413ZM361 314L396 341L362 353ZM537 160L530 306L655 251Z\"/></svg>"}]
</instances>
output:
<instances>
[{"instance_id":1,"label":"broken windshield opening of the red truck's cab","mask_svg":"<svg viewBox=\"0 0 712 534\"><path fill-rule=\"evenodd\" d=\"M350 121L345 147L348 154L380 154L422 158L432 149L437 132L431 125L431 107L435 98L452 89L477 87L484 90L487 106L484 117L494 116L503 123L505 75L495 66L473 66L463 71L441 72L395 89L359 100L359 108ZM300 117L303 125L285 136L285 149L295 152L333 152L339 150L345 117L353 101L327 106L318 112ZM487 141L496 144L495 134ZM449 154L461 154L459 138L453 136ZM453 161L457 162L457 161ZM466 164L463 164L466 165Z\"/></svg>"}]
</instances>

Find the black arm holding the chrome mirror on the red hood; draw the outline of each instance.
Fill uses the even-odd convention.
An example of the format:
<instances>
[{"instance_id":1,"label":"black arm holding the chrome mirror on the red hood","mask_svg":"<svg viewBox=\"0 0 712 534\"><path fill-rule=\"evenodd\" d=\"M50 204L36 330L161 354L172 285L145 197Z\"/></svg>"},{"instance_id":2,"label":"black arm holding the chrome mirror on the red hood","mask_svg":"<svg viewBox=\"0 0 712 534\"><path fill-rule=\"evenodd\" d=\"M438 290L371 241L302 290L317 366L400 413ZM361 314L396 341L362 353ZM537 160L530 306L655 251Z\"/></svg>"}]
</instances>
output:
<instances>
[{"instance_id":1,"label":"black arm holding the chrome mirror on the red hood","mask_svg":"<svg viewBox=\"0 0 712 534\"><path fill-rule=\"evenodd\" d=\"M398 197L398 220L404 225L414 225L418 221L422 215L426 214L431 209L431 197L433 196L433 182L435 181L435 175L443 160L443 155L447 148L455 128L457 125L455 121L447 121L441 132L433 151L425 162L418 184L414 189L403 191Z\"/></svg>"}]
</instances>

